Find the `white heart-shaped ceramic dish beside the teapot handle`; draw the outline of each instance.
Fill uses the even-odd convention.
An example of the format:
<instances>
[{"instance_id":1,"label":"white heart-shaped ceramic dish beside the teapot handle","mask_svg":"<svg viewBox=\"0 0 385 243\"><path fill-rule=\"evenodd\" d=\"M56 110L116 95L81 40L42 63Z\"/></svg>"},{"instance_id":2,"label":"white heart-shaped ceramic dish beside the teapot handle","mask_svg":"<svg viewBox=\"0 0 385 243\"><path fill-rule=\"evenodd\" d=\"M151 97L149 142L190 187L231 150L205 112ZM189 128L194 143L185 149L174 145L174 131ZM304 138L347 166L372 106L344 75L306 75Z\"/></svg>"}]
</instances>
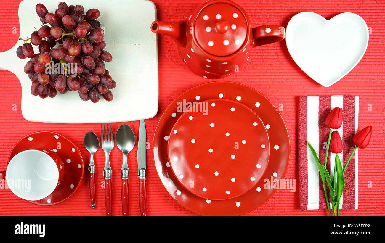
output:
<instances>
[{"instance_id":1,"label":"white heart-shaped ceramic dish beside the teapot handle","mask_svg":"<svg viewBox=\"0 0 385 243\"><path fill-rule=\"evenodd\" d=\"M325 87L360 62L368 41L368 27L355 13L340 13L326 20L313 12L301 12L286 27L291 57L303 72Z\"/></svg>"}]
</instances>

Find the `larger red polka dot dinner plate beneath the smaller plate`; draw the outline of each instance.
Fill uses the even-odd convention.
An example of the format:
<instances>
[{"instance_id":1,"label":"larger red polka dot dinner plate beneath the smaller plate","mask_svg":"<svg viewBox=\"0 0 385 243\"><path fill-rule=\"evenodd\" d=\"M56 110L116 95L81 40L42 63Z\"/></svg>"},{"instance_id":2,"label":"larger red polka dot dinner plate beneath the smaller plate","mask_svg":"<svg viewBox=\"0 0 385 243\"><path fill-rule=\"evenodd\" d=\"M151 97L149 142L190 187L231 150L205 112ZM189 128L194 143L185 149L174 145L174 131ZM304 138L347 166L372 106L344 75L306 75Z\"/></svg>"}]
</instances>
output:
<instances>
[{"instance_id":1,"label":"larger red polka dot dinner plate beneath the smaller plate","mask_svg":"<svg viewBox=\"0 0 385 243\"><path fill-rule=\"evenodd\" d=\"M185 111L181 107L187 106L188 102L214 98L237 101L258 114L266 127L271 148L268 166L258 183L246 193L227 200L204 199L184 188L172 172L167 155L170 132ZM290 155L290 142L280 113L261 93L238 83L211 82L191 88L171 103L157 125L153 151L157 174L166 191L177 203L199 215L238 216L258 208L276 191L274 188L265 188L264 180L281 179L285 176Z\"/></svg>"}]
</instances>

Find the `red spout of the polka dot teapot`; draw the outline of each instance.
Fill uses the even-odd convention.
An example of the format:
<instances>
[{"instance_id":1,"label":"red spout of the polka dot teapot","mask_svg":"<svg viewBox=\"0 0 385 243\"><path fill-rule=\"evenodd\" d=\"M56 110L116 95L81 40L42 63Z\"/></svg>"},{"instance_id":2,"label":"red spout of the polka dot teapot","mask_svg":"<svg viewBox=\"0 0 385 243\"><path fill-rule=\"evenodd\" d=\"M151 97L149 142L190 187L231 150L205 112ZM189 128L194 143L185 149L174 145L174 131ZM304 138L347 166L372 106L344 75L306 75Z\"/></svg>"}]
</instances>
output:
<instances>
[{"instance_id":1,"label":"red spout of the polka dot teapot","mask_svg":"<svg viewBox=\"0 0 385 243\"><path fill-rule=\"evenodd\" d=\"M169 35L178 45L186 47L187 33L185 21L176 23L154 21L151 24L151 31L154 33Z\"/></svg>"}]
</instances>

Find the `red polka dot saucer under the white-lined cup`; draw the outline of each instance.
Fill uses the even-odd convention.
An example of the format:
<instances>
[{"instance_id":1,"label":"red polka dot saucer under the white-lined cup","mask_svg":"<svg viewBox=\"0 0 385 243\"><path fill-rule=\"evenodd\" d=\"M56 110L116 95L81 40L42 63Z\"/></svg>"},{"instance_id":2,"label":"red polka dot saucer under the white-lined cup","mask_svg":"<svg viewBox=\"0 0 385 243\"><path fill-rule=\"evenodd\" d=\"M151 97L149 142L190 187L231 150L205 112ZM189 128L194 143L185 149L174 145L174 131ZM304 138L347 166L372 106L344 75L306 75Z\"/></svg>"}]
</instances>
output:
<instances>
[{"instance_id":1,"label":"red polka dot saucer under the white-lined cup","mask_svg":"<svg viewBox=\"0 0 385 243\"><path fill-rule=\"evenodd\" d=\"M44 206L61 203L74 194L82 181L84 163L80 150L65 136L50 131L39 131L23 137L16 143L9 155L8 163L21 151L36 148L56 152L63 160L64 176L62 183L49 196L38 201L27 201Z\"/></svg>"}]
</instances>

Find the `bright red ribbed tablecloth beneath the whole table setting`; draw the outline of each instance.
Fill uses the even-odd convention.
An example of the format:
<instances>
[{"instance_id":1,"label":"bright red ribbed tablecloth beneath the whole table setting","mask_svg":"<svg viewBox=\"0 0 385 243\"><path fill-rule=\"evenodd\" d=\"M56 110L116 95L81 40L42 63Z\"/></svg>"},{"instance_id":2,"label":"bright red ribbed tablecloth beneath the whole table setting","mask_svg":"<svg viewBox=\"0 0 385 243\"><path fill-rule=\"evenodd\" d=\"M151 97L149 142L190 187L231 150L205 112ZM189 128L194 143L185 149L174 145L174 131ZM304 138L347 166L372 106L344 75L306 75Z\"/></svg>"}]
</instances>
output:
<instances>
[{"instance_id":1,"label":"bright red ribbed tablecloth beneath the whole table setting","mask_svg":"<svg viewBox=\"0 0 385 243\"><path fill-rule=\"evenodd\" d=\"M19 0L2 0L0 5L0 51L13 47L18 34L12 34L12 27L18 30ZM37 3L39 1L37 0ZM66 1L77 4L82 1ZM202 0L155 0L159 20L178 21ZM358 170L358 210L342 210L341 215L385 215L385 12L384 1L251 1L235 0L248 13L253 27L264 24L280 24L286 27L296 13L311 11L329 19L342 12L360 15L368 27L369 45L358 65L329 88L322 87L309 78L291 59L285 41L254 48L250 59L239 73L223 79L248 85L280 108L290 135L291 155L285 178L296 179L296 191L277 190L276 193L248 216L259 215L320 215L326 210L300 210L298 164L297 164L297 117L298 97L308 95L355 95L360 97L359 126L373 126L370 145L360 150ZM34 11L33 9L31 11ZM18 30L19 32L19 30ZM16 54L16 53L15 53ZM15 55L16 57L16 55ZM0 60L9 62L11 60ZM22 68L22 67L20 67ZM159 35L159 111L156 117L146 120L147 141L152 143L156 125L167 106L182 92L201 83L208 82L194 75L181 61L176 44L171 38ZM89 154L83 146L87 131L99 134L99 124L51 124L30 122L23 118L20 110L21 86L13 73L0 70L0 170L7 167L8 155L13 145L23 136L35 131L54 131L67 136L82 151L85 163ZM13 104L17 109L13 110ZM116 131L122 123L113 123ZM139 121L128 122L134 132L139 132ZM121 215L121 176L122 153L115 148L111 155L113 175L113 214ZM129 215L139 216L138 179L136 176L136 147L129 153L129 167L132 174L130 183ZM100 149L95 154L95 164L99 168L96 183L103 180L104 153ZM87 166L85 166L87 167ZM88 172L88 171L87 171ZM85 173L86 176L88 176ZM87 178L87 177L86 177ZM178 205L164 190L152 159L152 151L147 151L147 214L156 215L195 215ZM0 215L34 216L104 216L104 190L97 190L97 208L92 210L89 202L88 179L82 181L78 190L68 200L52 206L38 206L13 195L10 190L0 189Z\"/></svg>"}]
</instances>

